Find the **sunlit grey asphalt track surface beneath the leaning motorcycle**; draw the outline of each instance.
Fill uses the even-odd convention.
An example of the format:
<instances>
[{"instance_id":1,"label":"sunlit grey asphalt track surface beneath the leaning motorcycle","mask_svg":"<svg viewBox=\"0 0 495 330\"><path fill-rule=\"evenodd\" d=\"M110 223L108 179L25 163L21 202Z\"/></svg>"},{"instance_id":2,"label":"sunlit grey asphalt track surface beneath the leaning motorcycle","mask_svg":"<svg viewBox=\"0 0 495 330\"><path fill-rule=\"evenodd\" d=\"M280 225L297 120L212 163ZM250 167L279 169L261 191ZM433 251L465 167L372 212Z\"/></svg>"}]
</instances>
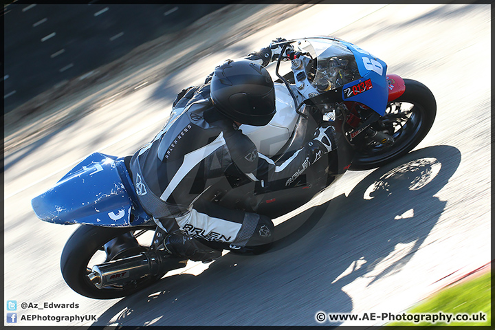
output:
<instances>
[{"instance_id":1,"label":"sunlit grey asphalt track surface beneath the leaning motorcycle","mask_svg":"<svg viewBox=\"0 0 495 330\"><path fill-rule=\"evenodd\" d=\"M316 34L355 43L384 60L388 73L431 89L437 118L415 151L348 172L298 217L276 219L282 239L270 252L189 263L184 274L128 298L72 292L59 258L75 227L39 221L30 199L89 153L131 154L151 140L175 93L225 58L277 36ZM126 81L141 85L133 93L110 93L96 111L5 154L5 301L17 300L18 319L98 319L17 325L330 325L317 322L317 312L404 311L491 260L490 64L489 5L312 5L154 83L139 80L148 67L129 74ZM51 302L79 307L21 308Z\"/></svg>"}]
</instances>

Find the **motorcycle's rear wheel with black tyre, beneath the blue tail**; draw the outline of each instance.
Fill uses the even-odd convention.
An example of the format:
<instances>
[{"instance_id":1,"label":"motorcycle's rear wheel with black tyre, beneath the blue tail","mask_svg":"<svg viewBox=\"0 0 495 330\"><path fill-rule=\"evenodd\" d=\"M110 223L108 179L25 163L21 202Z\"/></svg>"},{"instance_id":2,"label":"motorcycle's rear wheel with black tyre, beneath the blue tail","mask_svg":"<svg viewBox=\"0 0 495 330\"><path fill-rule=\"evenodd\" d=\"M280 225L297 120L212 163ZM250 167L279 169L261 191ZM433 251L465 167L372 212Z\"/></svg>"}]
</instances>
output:
<instances>
[{"instance_id":1,"label":"motorcycle's rear wheel with black tyre, beneath the blue tail","mask_svg":"<svg viewBox=\"0 0 495 330\"><path fill-rule=\"evenodd\" d=\"M80 225L67 240L62 252L61 270L65 282L75 292L83 296L95 299L113 299L129 296L158 281L159 278L148 276L140 281L133 281L128 285L115 285L98 289L94 283L89 281L87 276L91 273L92 265L133 256L147 250L147 247L140 245L135 238L146 234L148 231L153 232L154 228L108 228ZM125 244L119 247L117 253L115 251L109 252L109 244L107 243L111 243L118 237L120 237L121 241L125 241ZM143 239L142 241L151 242L151 239Z\"/></svg>"}]
</instances>

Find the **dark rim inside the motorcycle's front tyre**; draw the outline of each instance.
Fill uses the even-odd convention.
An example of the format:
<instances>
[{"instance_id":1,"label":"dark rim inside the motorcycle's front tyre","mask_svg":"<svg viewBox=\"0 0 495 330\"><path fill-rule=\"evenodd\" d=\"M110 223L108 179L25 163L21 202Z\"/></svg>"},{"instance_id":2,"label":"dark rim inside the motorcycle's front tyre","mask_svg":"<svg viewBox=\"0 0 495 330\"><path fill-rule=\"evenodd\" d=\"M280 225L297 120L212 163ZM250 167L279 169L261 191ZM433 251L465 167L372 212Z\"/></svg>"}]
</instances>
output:
<instances>
[{"instance_id":1,"label":"dark rim inside the motorcycle's front tyre","mask_svg":"<svg viewBox=\"0 0 495 330\"><path fill-rule=\"evenodd\" d=\"M417 139L417 135L425 120L425 110L415 102L391 102L385 115L379 121L380 127L375 129L391 135L395 142L388 146L380 142L370 142L360 149L357 159L359 162L386 161L408 152Z\"/></svg>"}]
</instances>

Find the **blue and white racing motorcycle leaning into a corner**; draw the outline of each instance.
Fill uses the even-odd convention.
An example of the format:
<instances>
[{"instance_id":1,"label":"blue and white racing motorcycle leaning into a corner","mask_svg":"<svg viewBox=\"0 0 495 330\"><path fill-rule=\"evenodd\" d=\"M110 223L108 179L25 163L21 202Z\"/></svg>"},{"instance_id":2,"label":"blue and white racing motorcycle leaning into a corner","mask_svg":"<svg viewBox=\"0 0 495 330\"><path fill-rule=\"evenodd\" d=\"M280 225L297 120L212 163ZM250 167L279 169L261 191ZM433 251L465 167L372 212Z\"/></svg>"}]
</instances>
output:
<instances>
[{"instance_id":1,"label":"blue and white racing motorcycle leaning into a corner","mask_svg":"<svg viewBox=\"0 0 495 330\"><path fill-rule=\"evenodd\" d=\"M352 43L316 36L281 45L284 56L273 63L276 115L266 126L240 129L274 162L309 142L318 126L334 127L338 148L294 173L283 189L256 189L225 174L201 196L272 219L303 206L349 169L376 168L405 155L426 136L437 111L425 85L388 74L384 61ZM185 110L173 109L164 129ZM81 224L61 256L63 278L79 294L128 296L186 266L153 244L159 231L135 194L129 156L93 153L32 199L39 219Z\"/></svg>"}]
</instances>

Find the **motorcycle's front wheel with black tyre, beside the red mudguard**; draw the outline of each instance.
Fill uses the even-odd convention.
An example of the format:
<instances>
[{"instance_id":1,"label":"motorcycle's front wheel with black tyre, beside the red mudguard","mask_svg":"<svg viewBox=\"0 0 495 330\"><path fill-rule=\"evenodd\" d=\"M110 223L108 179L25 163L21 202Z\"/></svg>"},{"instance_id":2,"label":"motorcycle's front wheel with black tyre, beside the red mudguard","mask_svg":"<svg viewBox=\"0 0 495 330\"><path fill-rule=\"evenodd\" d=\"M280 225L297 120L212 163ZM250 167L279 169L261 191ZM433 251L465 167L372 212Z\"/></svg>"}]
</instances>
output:
<instances>
[{"instance_id":1,"label":"motorcycle's front wheel with black tyre, beside the red mudguard","mask_svg":"<svg viewBox=\"0 0 495 330\"><path fill-rule=\"evenodd\" d=\"M384 116L372 125L373 129L391 135L395 142L363 143L356 150L351 170L368 170L393 162L417 146L430 131L437 115L432 92L416 80L404 79L404 83L404 94L389 102Z\"/></svg>"}]
</instances>

